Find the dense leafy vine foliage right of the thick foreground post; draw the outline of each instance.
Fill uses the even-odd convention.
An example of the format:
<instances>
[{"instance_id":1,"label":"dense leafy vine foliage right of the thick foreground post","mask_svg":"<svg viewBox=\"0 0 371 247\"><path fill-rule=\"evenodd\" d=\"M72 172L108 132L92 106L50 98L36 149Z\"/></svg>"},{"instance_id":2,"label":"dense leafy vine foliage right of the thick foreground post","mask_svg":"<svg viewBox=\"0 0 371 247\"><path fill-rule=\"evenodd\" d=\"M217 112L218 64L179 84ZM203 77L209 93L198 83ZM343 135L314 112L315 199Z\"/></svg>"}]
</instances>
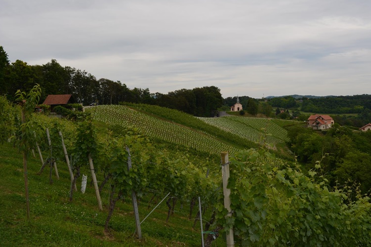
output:
<instances>
[{"instance_id":1,"label":"dense leafy vine foliage right of the thick foreground post","mask_svg":"<svg viewBox=\"0 0 371 247\"><path fill-rule=\"evenodd\" d=\"M238 152L228 185L233 214L226 220L221 213L224 227L233 227L242 246L370 245L369 198L352 202L342 190L329 191L323 176L316 182L317 167L308 177L264 150Z\"/></svg>"}]
</instances>

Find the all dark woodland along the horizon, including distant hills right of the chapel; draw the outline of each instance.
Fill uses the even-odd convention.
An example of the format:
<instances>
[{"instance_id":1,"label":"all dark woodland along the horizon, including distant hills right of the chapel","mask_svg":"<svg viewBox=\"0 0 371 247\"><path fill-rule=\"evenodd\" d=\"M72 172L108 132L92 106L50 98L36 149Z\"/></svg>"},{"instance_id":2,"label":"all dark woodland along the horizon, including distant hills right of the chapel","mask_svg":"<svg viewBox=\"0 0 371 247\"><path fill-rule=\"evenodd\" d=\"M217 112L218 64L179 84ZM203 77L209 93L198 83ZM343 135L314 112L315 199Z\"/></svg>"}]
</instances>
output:
<instances>
[{"instance_id":1,"label":"all dark woodland along the horizon, including distant hills right of the chapel","mask_svg":"<svg viewBox=\"0 0 371 247\"><path fill-rule=\"evenodd\" d=\"M17 89L30 90L35 83L42 89L41 103L48 94L72 94L76 103L89 105L97 102L101 105L142 103L158 105L183 111L198 117L212 117L216 111L229 111L236 103L236 96L223 98L220 88L203 86L193 89L179 89L164 93L152 93L149 88L128 88L120 81L105 78L97 79L91 73L61 66L55 59L44 65L29 65L22 60L10 63L4 48L0 46L0 95L6 94L10 101L14 100ZM296 96L296 97L293 97ZM361 127L371 122L371 95L305 97L298 95L254 99L239 96L243 109L256 116L258 113L267 117L275 117L274 108L295 112L299 111L322 114L358 114L358 118L339 118L340 124ZM277 111L277 109L276 109ZM279 112L276 112L278 115ZM278 118L290 118L283 114Z\"/></svg>"}]
</instances>

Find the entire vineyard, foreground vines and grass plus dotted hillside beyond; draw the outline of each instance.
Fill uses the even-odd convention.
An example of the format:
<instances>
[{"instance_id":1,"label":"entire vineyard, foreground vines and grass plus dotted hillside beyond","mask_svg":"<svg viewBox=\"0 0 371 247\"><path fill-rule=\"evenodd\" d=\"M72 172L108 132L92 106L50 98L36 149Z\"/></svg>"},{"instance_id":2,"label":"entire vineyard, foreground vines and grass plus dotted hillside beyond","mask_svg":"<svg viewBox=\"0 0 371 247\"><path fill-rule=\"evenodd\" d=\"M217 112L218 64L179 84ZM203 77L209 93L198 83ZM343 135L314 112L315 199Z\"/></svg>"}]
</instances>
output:
<instances>
[{"instance_id":1,"label":"entire vineyard, foreground vines and grass plus dotted hillside beyond","mask_svg":"<svg viewBox=\"0 0 371 247\"><path fill-rule=\"evenodd\" d=\"M332 188L320 161L304 174L264 145L239 150L210 133L283 142L269 120L110 105L69 121L33 113L38 86L16 96L19 106L0 98L1 246L226 246L231 235L239 246L371 245L370 198L356 185Z\"/></svg>"}]
</instances>

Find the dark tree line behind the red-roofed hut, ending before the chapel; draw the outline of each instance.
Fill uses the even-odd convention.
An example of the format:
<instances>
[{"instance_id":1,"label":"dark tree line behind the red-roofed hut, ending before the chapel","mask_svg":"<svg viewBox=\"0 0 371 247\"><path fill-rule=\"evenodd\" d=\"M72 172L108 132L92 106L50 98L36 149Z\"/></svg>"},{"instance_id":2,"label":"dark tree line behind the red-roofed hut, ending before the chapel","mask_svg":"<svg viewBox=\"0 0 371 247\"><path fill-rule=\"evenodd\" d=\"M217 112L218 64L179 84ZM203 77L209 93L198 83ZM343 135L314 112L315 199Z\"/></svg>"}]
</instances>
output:
<instances>
[{"instance_id":1,"label":"dark tree line behind the red-roofed hut, ending before the chapel","mask_svg":"<svg viewBox=\"0 0 371 247\"><path fill-rule=\"evenodd\" d=\"M36 83L42 89L41 102L48 94L72 94L74 100L83 105L93 102L143 103L200 117L210 117L223 106L222 94L216 86L180 89L167 94L151 93L149 88L130 89L120 81L96 79L85 70L63 67L55 59L44 65L29 65L21 60L10 63L7 53L0 46L0 95L6 94L8 100L14 101L14 93L18 89L29 91Z\"/></svg>"}]
</instances>

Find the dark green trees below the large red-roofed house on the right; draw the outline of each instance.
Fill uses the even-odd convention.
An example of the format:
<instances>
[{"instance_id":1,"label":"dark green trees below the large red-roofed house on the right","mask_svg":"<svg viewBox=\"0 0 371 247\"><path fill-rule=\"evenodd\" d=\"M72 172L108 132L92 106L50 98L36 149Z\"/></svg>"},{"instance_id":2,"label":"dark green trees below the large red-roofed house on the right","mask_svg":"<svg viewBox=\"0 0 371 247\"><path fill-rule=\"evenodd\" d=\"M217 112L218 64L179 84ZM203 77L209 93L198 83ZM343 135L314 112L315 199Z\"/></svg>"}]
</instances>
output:
<instances>
[{"instance_id":1,"label":"dark green trees below the large red-roofed house on the right","mask_svg":"<svg viewBox=\"0 0 371 247\"><path fill-rule=\"evenodd\" d=\"M321 161L331 187L348 181L360 184L362 194L371 190L371 131L354 132L335 124L326 132L295 126L288 129L288 146L305 169Z\"/></svg>"}]
</instances>

